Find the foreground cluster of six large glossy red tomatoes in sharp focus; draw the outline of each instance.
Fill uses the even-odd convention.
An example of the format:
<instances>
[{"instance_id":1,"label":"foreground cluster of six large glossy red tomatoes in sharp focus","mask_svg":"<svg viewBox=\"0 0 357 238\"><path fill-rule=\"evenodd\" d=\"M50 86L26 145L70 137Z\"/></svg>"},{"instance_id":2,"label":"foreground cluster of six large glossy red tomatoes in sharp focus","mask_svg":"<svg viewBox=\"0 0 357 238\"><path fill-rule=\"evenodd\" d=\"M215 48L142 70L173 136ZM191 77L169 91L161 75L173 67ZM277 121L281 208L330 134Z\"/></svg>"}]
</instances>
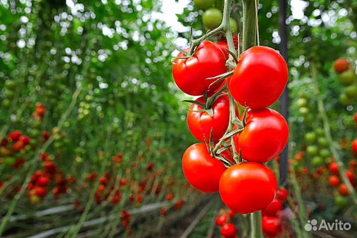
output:
<instances>
[{"instance_id":1,"label":"foreground cluster of six large glossy red tomatoes in sharp focus","mask_svg":"<svg viewBox=\"0 0 357 238\"><path fill-rule=\"evenodd\" d=\"M237 67L227 82L215 81L218 75L227 71L230 70L226 67L225 54L210 41L203 41L193 56L186 57L180 53L174 60L173 75L178 87L192 96L204 95L193 102L187 116L191 133L201 143L187 148L182 167L192 186L207 193L219 191L230 209L247 214L264 209L276 195L275 175L262 163L283 151L289 127L283 116L266 107L275 103L283 93L288 80L288 67L275 50L257 46L240 55ZM222 139L230 123L230 107L235 107L237 114L236 105L230 105L230 96L220 90L226 83L228 95L231 94L235 101L249 109L240 116L242 123L235 123L234 128L241 132L234 135L233 149L239 152L246 161L244 163L237 163L232 158L231 150L217 155L217 150L203 143L205 138L214 143ZM206 95L213 97L212 105L207 105ZM236 115L234 118L238 121ZM225 141L221 144L229 144L229 139L223 139ZM234 165L226 169L219 160L220 156Z\"/></svg>"}]
</instances>

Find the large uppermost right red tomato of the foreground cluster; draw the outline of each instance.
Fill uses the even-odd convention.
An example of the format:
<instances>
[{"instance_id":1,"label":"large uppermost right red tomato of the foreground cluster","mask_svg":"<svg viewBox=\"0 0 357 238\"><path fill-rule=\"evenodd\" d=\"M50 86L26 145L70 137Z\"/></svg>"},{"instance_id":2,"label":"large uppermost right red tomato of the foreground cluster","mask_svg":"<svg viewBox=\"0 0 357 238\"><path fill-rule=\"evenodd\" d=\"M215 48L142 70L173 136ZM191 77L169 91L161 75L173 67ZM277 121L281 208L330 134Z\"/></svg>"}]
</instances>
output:
<instances>
[{"instance_id":1,"label":"large uppermost right red tomato of the foreground cluster","mask_svg":"<svg viewBox=\"0 0 357 238\"><path fill-rule=\"evenodd\" d=\"M288 77L288 66L279 53L269 47L256 46L240 55L228 87L240 105L266 108L279 99Z\"/></svg>"}]
</instances>

